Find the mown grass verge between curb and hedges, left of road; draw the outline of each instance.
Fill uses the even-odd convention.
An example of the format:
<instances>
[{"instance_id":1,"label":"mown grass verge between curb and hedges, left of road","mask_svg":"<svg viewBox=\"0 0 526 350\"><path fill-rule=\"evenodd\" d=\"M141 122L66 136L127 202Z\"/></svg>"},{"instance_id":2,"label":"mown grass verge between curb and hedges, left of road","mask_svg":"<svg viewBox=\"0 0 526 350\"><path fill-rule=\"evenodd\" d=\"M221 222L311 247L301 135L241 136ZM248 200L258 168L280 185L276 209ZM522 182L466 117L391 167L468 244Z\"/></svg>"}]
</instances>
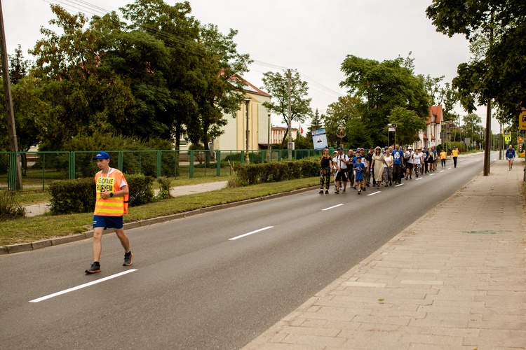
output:
<instances>
[{"instance_id":1,"label":"mown grass verge between curb and hedges, left of road","mask_svg":"<svg viewBox=\"0 0 526 350\"><path fill-rule=\"evenodd\" d=\"M124 216L124 222L131 223L147 218L156 218L158 216L212 207L218 204L249 200L250 198L284 193L318 184L319 179L313 177L178 196L140 207L132 207L129 209L130 213ZM46 214L32 218L6 221L4 225L0 226L0 246L28 243L86 232L90 230L90 223L92 221L93 213L56 216Z\"/></svg>"}]
</instances>

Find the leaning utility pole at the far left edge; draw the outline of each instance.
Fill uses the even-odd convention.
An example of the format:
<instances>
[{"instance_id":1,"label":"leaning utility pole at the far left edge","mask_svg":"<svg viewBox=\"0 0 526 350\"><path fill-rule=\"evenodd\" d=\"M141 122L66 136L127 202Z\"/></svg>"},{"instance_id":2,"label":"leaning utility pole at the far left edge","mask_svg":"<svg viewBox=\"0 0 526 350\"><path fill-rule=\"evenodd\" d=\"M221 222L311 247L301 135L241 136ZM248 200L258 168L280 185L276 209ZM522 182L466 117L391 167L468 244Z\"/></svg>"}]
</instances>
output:
<instances>
[{"instance_id":1,"label":"leaning utility pole at the far left edge","mask_svg":"<svg viewBox=\"0 0 526 350\"><path fill-rule=\"evenodd\" d=\"M9 62L7 57L7 44L6 44L6 31L4 27L4 13L2 11L2 1L0 0L0 56L2 62L2 78L4 79L4 94L6 95L6 112L7 112L7 127L9 132L9 146L11 147L11 156L15 155L15 162L11 161L11 165L16 164L15 167L10 167L12 171L16 172L16 189L22 189L22 169L20 168L20 162L18 161L18 141L16 138L15 129L15 113L13 113L13 99L11 98L11 79L9 78ZM10 179L13 179L11 174ZM14 181L13 181L14 182ZM11 183L10 183L11 185ZM14 191L15 188L10 186L10 190Z\"/></svg>"}]
</instances>

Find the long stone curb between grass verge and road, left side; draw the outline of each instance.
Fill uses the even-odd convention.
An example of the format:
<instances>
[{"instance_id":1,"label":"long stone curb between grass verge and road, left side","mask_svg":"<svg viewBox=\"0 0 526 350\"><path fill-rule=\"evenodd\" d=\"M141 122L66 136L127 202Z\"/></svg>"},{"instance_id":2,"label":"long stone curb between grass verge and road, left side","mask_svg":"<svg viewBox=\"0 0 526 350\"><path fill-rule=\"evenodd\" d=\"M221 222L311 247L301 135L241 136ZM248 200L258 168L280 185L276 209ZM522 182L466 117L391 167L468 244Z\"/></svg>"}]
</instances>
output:
<instances>
[{"instance_id":1,"label":"long stone curb between grass verge and road, left side","mask_svg":"<svg viewBox=\"0 0 526 350\"><path fill-rule=\"evenodd\" d=\"M125 223L124 229L131 230L133 228L143 228L145 226L154 225L156 223L165 223L166 221L172 221L172 220L177 220L180 218L187 218L189 216L194 216L198 214L209 213L210 211L217 211L221 209L238 207L244 204L262 202L264 200L272 200L274 198L285 197L288 195L295 195L297 193L307 192L315 188L318 188L318 185L306 187L306 188L300 188L299 190L292 190L289 192L276 193L275 195L251 198L250 200L242 200L239 202L218 204L213 207L205 207L205 208L200 208L200 209L196 209L192 211L185 211L183 213L177 213L177 214L172 214L172 215L167 215L167 216L158 216L156 218L149 218L149 219L145 219L142 221L135 221L133 223ZM103 235L109 235L110 233L114 233L114 229L110 228L110 229L104 230ZM41 241L34 241L32 243L20 243L20 244L11 244L10 246L0 246L0 255L21 253L23 251L34 251L36 249L47 248L49 246L58 246L59 244L66 244L66 243L71 243L74 241L81 241L83 239L90 239L92 237L93 237L93 230L89 230L83 233L66 236L66 237L56 237L56 238L50 238L50 239L43 239Z\"/></svg>"}]
</instances>

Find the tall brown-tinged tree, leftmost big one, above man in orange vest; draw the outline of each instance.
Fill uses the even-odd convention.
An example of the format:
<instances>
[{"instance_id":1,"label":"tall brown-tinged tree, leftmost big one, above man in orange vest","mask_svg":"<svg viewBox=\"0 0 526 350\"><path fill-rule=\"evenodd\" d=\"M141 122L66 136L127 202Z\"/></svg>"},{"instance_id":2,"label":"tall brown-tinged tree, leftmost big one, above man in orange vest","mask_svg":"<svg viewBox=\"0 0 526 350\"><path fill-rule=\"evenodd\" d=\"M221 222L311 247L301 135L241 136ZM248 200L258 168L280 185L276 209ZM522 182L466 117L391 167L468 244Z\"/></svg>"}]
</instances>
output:
<instances>
[{"instance_id":1,"label":"tall brown-tinged tree, leftmost big one, above man in orange vest","mask_svg":"<svg viewBox=\"0 0 526 350\"><path fill-rule=\"evenodd\" d=\"M30 51L36 57L35 76L41 79L41 99L50 106L50 120L42 125L42 148L60 149L65 141L95 130L118 132L108 121L107 104L126 109L133 103L130 90L118 76L100 75L105 48L99 22L82 14L72 15L51 5L56 18L50 25L58 34L41 28L44 38ZM115 16L113 14L113 16Z\"/></svg>"}]
</instances>

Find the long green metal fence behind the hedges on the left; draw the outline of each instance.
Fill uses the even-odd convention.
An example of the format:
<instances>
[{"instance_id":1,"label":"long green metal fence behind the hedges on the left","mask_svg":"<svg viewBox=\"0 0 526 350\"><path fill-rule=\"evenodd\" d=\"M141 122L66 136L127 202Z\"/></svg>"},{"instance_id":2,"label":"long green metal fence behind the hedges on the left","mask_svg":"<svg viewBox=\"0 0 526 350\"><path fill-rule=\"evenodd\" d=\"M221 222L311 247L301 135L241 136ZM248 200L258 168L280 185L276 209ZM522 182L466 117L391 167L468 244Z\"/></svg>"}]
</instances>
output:
<instances>
[{"instance_id":1,"label":"long green metal fence behind the hedges on the left","mask_svg":"<svg viewBox=\"0 0 526 350\"><path fill-rule=\"evenodd\" d=\"M126 174L194 179L231 174L231 165L244 164L244 150L208 151L108 151L111 167ZM45 190L56 180L94 176L99 171L92 158L96 151L0 152L0 190L20 190L17 169L22 172L22 190ZM251 150L251 164L293 160L320 155L314 150ZM17 161L18 158L18 161Z\"/></svg>"}]
</instances>

